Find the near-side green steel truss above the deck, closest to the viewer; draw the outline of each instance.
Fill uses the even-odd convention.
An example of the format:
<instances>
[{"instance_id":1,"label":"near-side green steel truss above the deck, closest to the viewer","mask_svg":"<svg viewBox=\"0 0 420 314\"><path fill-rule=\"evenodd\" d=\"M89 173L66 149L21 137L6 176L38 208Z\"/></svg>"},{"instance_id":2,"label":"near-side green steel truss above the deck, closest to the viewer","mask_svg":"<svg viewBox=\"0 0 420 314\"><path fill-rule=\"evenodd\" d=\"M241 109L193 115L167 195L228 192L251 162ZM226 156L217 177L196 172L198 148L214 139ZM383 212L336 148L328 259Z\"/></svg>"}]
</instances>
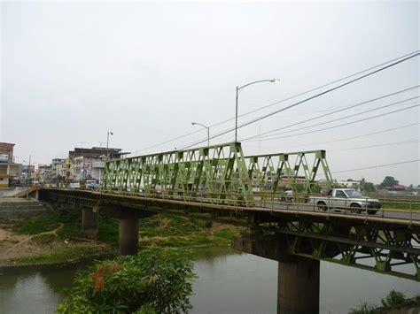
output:
<instances>
[{"instance_id":1,"label":"near-side green steel truss above the deck, closest to the viewer","mask_svg":"<svg viewBox=\"0 0 420 314\"><path fill-rule=\"evenodd\" d=\"M108 161L103 188L210 203L253 200L238 142Z\"/></svg>"}]
</instances>

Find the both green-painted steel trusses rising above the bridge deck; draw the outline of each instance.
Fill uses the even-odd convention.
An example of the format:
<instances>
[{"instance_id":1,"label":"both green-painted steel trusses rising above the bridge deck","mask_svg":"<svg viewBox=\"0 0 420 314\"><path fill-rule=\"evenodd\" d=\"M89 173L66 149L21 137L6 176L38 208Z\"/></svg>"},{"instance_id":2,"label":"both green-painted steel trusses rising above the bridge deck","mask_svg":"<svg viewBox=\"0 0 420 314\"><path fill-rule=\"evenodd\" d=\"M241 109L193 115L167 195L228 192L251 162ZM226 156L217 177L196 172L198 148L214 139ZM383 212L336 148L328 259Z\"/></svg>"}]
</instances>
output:
<instances>
[{"instance_id":1,"label":"both green-painted steel trusses rising above the bridge deck","mask_svg":"<svg viewBox=\"0 0 420 314\"><path fill-rule=\"evenodd\" d=\"M102 188L210 203L245 200L245 205L251 206L253 191L276 195L286 186L298 192L300 185L299 192L310 193L320 165L325 186L331 188L325 150L244 157L241 144L230 142L110 160Z\"/></svg>"}]
</instances>

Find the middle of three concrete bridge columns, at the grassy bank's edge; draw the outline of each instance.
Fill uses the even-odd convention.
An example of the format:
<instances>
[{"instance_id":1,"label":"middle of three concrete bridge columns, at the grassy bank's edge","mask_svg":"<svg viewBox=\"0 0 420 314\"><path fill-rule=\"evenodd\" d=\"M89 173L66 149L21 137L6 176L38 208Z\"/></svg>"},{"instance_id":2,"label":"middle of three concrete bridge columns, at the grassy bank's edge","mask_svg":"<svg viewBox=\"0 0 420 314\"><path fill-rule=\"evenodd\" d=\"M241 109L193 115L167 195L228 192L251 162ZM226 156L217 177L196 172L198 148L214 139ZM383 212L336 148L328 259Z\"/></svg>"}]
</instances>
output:
<instances>
[{"instance_id":1,"label":"middle of three concrete bridge columns, at the grassy bank's edge","mask_svg":"<svg viewBox=\"0 0 420 314\"><path fill-rule=\"evenodd\" d=\"M136 255L138 251L138 218L120 218L118 253Z\"/></svg>"}]
</instances>

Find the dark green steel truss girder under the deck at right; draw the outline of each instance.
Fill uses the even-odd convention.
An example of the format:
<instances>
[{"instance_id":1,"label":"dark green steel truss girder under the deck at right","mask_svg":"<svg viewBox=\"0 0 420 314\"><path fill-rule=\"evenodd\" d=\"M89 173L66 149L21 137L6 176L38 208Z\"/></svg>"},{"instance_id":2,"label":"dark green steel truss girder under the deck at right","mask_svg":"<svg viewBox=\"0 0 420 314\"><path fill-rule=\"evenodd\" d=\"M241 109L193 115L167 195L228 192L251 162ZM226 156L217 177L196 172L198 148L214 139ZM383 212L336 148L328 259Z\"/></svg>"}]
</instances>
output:
<instances>
[{"instance_id":1,"label":"dark green steel truss girder under the deck at right","mask_svg":"<svg viewBox=\"0 0 420 314\"><path fill-rule=\"evenodd\" d=\"M420 281L418 233L379 226L353 226L348 230L347 234L335 235L331 223L295 221L280 226L278 231L286 235L292 255ZM337 254L331 256L331 252ZM373 264L361 263L366 258L370 258ZM395 270L394 267L400 264L410 264L413 272Z\"/></svg>"}]
</instances>

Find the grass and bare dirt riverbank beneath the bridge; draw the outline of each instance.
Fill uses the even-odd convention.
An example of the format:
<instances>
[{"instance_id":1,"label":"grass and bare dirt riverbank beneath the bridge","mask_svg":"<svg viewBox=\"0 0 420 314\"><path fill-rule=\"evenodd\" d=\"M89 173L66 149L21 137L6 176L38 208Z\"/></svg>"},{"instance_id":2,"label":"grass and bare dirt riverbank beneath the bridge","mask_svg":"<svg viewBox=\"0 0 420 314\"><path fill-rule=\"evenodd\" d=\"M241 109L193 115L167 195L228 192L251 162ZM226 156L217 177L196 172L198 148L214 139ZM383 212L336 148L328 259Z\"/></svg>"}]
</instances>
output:
<instances>
[{"instance_id":1,"label":"grass and bare dirt riverbank beneath the bridge","mask_svg":"<svg viewBox=\"0 0 420 314\"><path fill-rule=\"evenodd\" d=\"M117 219L99 217L97 241L82 239L81 212L49 210L26 219L0 221L0 267L68 264L117 253ZM139 221L139 246L228 247L243 227L159 214Z\"/></svg>"}]
</instances>

